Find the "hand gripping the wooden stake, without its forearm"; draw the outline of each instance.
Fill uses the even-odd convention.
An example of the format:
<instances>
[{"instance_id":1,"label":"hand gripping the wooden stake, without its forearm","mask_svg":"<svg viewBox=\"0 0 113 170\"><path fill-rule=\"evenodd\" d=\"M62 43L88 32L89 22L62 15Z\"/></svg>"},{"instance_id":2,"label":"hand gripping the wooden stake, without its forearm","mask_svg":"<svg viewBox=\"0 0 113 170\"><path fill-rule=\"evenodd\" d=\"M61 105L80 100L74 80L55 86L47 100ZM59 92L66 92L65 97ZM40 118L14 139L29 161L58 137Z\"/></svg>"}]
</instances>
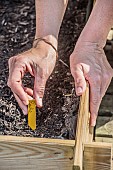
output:
<instances>
[{"instance_id":1,"label":"hand gripping the wooden stake, without its forearm","mask_svg":"<svg viewBox=\"0 0 113 170\"><path fill-rule=\"evenodd\" d=\"M82 95L85 91L86 80L90 84L90 124L95 126L102 97L113 77L113 69L103 48L91 42L79 42L75 46L70 56L70 67L77 95Z\"/></svg>"}]
</instances>

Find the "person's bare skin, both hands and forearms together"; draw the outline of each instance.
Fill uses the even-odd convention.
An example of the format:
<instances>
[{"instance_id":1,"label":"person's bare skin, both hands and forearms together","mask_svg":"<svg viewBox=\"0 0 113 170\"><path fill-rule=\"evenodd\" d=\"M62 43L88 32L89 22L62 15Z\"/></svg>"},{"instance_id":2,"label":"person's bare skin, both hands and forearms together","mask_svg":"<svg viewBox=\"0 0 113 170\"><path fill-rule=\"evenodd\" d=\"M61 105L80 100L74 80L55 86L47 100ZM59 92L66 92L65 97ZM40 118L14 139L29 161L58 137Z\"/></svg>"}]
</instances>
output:
<instances>
[{"instance_id":1,"label":"person's bare skin, both hands and forearms together","mask_svg":"<svg viewBox=\"0 0 113 170\"><path fill-rule=\"evenodd\" d=\"M43 37L57 48L57 37L62 18L67 6L66 0L36 0L36 35ZM55 6L55 8L54 8ZM90 84L91 125L96 124L100 102L113 77L103 47L108 32L113 24L113 0L97 0L92 14L83 29L75 49L70 56L70 69L74 77L77 95L82 95L86 80ZM42 98L46 81L54 69L55 50L41 41L37 48L32 48L9 60L8 85L14 96L27 114L30 98L36 99L37 107L42 107ZM35 77L34 89L22 86L21 79L25 72Z\"/></svg>"}]
</instances>

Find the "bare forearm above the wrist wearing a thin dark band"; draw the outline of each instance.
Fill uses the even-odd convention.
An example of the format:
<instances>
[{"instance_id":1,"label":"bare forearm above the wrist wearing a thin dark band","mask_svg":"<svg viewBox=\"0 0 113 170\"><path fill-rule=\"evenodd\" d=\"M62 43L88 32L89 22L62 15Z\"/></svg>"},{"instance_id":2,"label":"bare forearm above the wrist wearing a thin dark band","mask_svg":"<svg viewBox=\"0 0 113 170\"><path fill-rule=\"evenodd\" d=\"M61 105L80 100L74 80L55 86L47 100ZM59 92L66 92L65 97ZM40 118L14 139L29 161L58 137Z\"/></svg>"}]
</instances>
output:
<instances>
[{"instance_id":1,"label":"bare forearm above the wrist wearing a thin dark band","mask_svg":"<svg viewBox=\"0 0 113 170\"><path fill-rule=\"evenodd\" d=\"M68 0L35 0L35 3L35 37L46 37L50 35L57 39Z\"/></svg>"}]
</instances>

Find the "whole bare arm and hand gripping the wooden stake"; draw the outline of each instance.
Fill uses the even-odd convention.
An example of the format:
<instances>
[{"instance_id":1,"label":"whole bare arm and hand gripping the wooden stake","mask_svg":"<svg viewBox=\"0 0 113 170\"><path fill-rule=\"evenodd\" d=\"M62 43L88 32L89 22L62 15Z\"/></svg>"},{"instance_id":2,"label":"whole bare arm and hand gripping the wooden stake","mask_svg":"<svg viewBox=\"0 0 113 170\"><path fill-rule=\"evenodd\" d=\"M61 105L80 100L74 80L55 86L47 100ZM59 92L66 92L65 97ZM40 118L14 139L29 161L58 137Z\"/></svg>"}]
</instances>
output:
<instances>
[{"instance_id":1,"label":"whole bare arm and hand gripping the wooden stake","mask_svg":"<svg viewBox=\"0 0 113 170\"><path fill-rule=\"evenodd\" d=\"M91 16L70 56L71 73L76 93L81 95L90 84L91 125L96 124L98 109L110 81L113 69L109 65L103 47L113 25L113 0L97 0Z\"/></svg>"}]
</instances>

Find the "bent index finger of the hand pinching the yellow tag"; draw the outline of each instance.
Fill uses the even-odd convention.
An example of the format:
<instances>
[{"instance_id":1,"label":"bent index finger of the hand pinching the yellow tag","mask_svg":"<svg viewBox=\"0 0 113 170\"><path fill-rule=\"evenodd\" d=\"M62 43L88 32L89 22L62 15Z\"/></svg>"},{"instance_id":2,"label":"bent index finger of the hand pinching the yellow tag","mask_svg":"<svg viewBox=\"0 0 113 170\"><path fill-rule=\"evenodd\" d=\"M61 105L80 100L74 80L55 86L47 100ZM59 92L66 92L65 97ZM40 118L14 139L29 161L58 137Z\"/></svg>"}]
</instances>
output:
<instances>
[{"instance_id":1,"label":"bent index finger of the hand pinching the yellow tag","mask_svg":"<svg viewBox=\"0 0 113 170\"><path fill-rule=\"evenodd\" d=\"M12 66L13 67L13 66ZM8 86L11 90L20 98L20 100L25 104L28 105L28 98L22 87L22 77L24 75L23 67L14 67L13 70L9 70L9 78L8 78Z\"/></svg>"}]
</instances>

